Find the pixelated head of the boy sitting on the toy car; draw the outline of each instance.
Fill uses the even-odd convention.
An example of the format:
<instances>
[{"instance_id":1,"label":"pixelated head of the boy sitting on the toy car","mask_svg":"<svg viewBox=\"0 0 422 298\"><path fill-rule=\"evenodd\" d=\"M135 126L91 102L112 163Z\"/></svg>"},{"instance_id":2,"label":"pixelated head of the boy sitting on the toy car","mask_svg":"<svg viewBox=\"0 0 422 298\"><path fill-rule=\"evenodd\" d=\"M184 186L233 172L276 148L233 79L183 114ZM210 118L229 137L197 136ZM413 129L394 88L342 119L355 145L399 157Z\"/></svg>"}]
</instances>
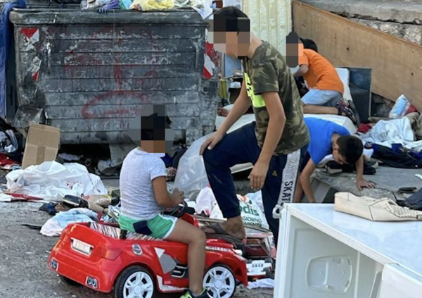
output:
<instances>
[{"instance_id":1,"label":"pixelated head of the boy sitting on the toy car","mask_svg":"<svg viewBox=\"0 0 422 298\"><path fill-rule=\"evenodd\" d=\"M169 153L174 142L174 131L166 117L165 105L143 106L140 115L129 122L127 134L149 153Z\"/></svg>"}]
</instances>

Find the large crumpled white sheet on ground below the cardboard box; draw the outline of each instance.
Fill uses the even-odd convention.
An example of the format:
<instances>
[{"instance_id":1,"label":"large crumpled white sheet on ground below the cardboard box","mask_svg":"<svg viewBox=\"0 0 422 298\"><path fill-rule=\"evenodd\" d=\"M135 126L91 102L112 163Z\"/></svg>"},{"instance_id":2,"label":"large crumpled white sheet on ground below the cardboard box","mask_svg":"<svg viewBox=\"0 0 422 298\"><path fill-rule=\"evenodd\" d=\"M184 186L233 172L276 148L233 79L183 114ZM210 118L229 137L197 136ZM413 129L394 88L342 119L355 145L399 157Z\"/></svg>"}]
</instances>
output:
<instances>
[{"instance_id":1,"label":"large crumpled white sheet on ground below the cardboard box","mask_svg":"<svg viewBox=\"0 0 422 298\"><path fill-rule=\"evenodd\" d=\"M107 194L101 178L88 172L79 163L45 161L25 170L13 170L6 175L10 192L30 194L46 200L61 201L66 194Z\"/></svg>"}]
</instances>

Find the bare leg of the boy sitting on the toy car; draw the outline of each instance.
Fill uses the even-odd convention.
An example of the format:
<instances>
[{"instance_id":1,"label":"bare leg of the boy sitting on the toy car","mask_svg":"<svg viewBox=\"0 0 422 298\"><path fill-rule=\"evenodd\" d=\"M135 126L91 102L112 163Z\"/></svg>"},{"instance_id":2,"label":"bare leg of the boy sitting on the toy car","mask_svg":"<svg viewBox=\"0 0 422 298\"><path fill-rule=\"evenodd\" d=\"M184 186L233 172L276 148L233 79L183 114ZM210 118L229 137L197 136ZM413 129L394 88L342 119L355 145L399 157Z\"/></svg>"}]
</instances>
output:
<instances>
[{"instance_id":1,"label":"bare leg of the boy sitting on the toy car","mask_svg":"<svg viewBox=\"0 0 422 298\"><path fill-rule=\"evenodd\" d=\"M199 296L205 271L205 232L179 219L167 240L188 244L189 290Z\"/></svg>"}]
</instances>

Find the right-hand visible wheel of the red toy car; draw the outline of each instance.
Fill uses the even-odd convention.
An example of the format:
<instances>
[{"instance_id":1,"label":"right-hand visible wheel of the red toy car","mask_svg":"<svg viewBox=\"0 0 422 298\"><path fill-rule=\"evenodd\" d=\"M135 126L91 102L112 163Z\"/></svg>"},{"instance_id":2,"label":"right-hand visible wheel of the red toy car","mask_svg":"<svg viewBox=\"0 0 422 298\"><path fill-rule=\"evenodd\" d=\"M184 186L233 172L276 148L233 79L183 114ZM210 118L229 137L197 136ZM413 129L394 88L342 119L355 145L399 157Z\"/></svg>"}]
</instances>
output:
<instances>
[{"instance_id":1,"label":"right-hand visible wheel of the red toy car","mask_svg":"<svg viewBox=\"0 0 422 298\"><path fill-rule=\"evenodd\" d=\"M212 298L230 298L236 292L233 271L224 265L213 266L204 275L203 286Z\"/></svg>"}]
</instances>

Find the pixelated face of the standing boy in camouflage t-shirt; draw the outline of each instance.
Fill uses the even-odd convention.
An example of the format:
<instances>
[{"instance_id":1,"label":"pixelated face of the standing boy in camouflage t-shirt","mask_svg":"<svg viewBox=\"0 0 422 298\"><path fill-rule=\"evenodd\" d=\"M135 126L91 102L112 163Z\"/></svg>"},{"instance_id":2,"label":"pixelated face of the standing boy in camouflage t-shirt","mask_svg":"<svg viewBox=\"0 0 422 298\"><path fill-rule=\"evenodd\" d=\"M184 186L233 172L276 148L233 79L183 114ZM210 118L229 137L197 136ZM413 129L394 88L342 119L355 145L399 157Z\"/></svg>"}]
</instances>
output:
<instances>
[{"instance_id":1,"label":"pixelated face of the standing boy in camouflage t-shirt","mask_svg":"<svg viewBox=\"0 0 422 298\"><path fill-rule=\"evenodd\" d=\"M250 46L250 21L248 18L222 19L212 15L207 39L216 51L232 58L248 56Z\"/></svg>"}]
</instances>

